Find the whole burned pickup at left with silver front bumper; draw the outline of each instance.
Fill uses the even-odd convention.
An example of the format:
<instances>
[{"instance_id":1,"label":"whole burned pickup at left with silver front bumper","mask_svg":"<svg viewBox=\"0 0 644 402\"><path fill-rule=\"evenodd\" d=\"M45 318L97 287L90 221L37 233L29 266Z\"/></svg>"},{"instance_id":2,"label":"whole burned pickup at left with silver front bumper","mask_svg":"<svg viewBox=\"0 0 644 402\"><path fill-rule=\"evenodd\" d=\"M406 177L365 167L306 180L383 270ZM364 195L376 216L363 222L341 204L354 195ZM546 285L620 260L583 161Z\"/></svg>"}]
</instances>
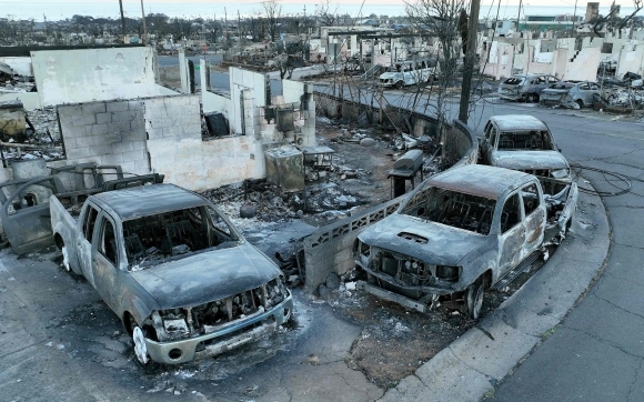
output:
<instances>
[{"instance_id":1,"label":"whole burned pickup at left with silver front bumper","mask_svg":"<svg viewBox=\"0 0 644 402\"><path fill-rule=\"evenodd\" d=\"M107 191L78 215L52 195L50 211L63 264L122 320L143 364L218 354L291 318L278 267L195 193L172 184Z\"/></svg>"}]
</instances>

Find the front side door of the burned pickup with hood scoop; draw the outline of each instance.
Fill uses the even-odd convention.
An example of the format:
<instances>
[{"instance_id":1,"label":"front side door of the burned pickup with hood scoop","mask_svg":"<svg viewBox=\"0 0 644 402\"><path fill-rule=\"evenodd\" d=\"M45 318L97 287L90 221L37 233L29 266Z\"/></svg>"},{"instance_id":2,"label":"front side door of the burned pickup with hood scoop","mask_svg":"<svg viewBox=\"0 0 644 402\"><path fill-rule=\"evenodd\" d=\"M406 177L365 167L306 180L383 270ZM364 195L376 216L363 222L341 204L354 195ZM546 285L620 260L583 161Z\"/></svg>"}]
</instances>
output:
<instances>
[{"instance_id":1,"label":"front side door of the burned pickup with hood scoop","mask_svg":"<svg viewBox=\"0 0 644 402\"><path fill-rule=\"evenodd\" d=\"M525 224L519 191L510 194L501 207L499 220L499 270L503 275L523 260Z\"/></svg>"}]
</instances>

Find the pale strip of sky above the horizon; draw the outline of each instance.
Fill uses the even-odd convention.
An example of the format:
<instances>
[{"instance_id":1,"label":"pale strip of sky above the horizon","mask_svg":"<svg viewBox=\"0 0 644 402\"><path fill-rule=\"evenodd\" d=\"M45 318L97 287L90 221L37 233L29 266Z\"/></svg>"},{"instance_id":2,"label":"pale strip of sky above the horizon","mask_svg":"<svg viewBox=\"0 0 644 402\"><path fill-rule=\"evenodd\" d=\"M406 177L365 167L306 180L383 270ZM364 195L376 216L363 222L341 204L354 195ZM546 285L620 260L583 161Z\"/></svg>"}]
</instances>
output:
<instances>
[{"instance_id":1,"label":"pale strip of sky above the horizon","mask_svg":"<svg viewBox=\"0 0 644 402\"><path fill-rule=\"evenodd\" d=\"M127 17L140 18L140 0L122 0ZM414 2L415 0L410 0ZM501 7L499 2L501 1ZM622 14L633 9L633 0L620 1ZM316 6L326 0L278 0L282 6L282 14L312 14ZM583 16L586 1L577 0L576 14ZM600 13L607 13L612 1L600 2ZM169 17L209 17L222 18L225 12L229 17L235 16L238 10L242 16L259 13L262 10L261 0L143 0L145 13L164 13ZM349 13L358 17L368 17L371 13L386 16L403 16L403 0L329 0L330 9L338 6L339 13ZM305 10L304 10L305 8ZM481 18L496 16L500 18L516 18L519 0L482 0ZM523 0L522 14L560 16L575 12L575 0ZM42 21L61 20L73 14L119 18L119 0L0 0L0 18L34 19Z\"/></svg>"}]
</instances>

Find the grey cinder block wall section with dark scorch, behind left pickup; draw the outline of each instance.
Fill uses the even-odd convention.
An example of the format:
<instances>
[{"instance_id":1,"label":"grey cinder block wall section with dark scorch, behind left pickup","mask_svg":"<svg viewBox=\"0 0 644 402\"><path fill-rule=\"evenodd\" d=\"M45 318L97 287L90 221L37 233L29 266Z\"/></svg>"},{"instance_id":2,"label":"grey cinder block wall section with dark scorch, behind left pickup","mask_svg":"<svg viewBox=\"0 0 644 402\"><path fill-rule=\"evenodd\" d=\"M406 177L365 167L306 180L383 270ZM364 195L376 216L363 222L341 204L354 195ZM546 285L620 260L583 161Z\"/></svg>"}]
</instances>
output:
<instances>
[{"instance_id":1,"label":"grey cinder block wall section with dark scorch, behind left pickup","mask_svg":"<svg viewBox=\"0 0 644 402\"><path fill-rule=\"evenodd\" d=\"M59 105L67 164L120 164L123 172L145 174L143 101Z\"/></svg>"}]
</instances>

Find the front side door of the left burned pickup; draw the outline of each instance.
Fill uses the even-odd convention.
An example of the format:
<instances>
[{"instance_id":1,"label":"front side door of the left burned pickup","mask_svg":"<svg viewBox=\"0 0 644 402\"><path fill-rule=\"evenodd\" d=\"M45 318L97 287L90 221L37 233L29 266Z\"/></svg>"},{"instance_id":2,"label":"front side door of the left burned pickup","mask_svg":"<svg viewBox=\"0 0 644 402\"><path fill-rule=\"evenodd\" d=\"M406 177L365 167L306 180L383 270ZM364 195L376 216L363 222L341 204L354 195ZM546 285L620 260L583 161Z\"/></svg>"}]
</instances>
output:
<instances>
[{"instance_id":1,"label":"front side door of the left burned pickup","mask_svg":"<svg viewBox=\"0 0 644 402\"><path fill-rule=\"evenodd\" d=\"M122 275L120 263L120 235L114 220L104 211L99 213L92 235L92 270L97 292L114 311L119 312Z\"/></svg>"}]
</instances>

